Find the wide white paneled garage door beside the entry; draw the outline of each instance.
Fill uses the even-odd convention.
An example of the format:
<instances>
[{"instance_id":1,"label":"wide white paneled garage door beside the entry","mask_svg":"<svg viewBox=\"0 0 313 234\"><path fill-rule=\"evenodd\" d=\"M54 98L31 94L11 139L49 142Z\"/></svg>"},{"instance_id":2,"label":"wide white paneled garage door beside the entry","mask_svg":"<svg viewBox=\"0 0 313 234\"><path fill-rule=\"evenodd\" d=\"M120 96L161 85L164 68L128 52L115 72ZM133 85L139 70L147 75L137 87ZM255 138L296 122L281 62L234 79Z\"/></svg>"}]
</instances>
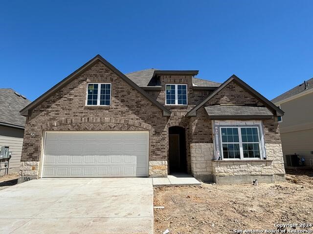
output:
<instances>
[{"instance_id":1,"label":"wide white paneled garage door beside the entry","mask_svg":"<svg viewBox=\"0 0 313 234\"><path fill-rule=\"evenodd\" d=\"M148 132L46 132L42 177L148 176Z\"/></svg>"}]
</instances>

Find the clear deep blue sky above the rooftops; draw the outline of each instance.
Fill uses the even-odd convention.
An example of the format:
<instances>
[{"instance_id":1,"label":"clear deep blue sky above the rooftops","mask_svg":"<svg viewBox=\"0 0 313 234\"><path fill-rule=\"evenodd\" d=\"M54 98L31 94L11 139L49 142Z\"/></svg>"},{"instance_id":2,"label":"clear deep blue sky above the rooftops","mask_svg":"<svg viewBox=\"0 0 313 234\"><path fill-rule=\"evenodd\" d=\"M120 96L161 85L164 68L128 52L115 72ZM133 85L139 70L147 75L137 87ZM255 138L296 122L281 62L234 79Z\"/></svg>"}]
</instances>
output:
<instances>
[{"instance_id":1,"label":"clear deep blue sky above the rooftops","mask_svg":"<svg viewBox=\"0 0 313 234\"><path fill-rule=\"evenodd\" d=\"M0 3L0 87L34 100L102 55L124 73L232 74L271 99L313 77L312 0Z\"/></svg>"}]
</instances>

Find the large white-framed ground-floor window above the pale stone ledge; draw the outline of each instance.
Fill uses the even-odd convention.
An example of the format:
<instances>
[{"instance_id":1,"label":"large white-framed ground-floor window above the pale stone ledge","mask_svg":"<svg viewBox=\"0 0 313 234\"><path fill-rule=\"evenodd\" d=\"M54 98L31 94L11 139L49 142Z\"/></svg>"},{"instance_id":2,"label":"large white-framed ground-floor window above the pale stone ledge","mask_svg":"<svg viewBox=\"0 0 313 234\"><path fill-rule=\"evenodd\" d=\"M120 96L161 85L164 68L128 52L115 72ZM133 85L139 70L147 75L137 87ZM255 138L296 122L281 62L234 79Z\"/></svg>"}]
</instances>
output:
<instances>
[{"instance_id":1,"label":"large white-framed ground-floor window above the pale stone ledge","mask_svg":"<svg viewBox=\"0 0 313 234\"><path fill-rule=\"evenodd\" d=\"M223 159L261 158L257 127L221 127Z\"/></svg>"}]
</instances>

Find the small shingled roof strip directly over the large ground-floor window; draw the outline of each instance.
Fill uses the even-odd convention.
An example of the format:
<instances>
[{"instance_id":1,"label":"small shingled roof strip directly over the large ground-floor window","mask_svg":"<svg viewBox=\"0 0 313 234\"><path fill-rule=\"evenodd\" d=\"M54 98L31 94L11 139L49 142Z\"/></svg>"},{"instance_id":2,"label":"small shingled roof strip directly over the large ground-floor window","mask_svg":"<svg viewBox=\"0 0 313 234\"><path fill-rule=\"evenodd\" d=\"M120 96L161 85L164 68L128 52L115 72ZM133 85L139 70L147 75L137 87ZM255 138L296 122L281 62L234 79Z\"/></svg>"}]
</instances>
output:
<instances>
[{"instance_id":1,"label":"small shingled roof strip directly over the large ground-floor window","mask_svg":"<svg viewBox=\"0 0 313 234\"><path fill-rule=\"evenodd\" d=\"M272 116L266 107L213 105L204 107L210 117L214 116Z\"/></svg>"}]
</instances>

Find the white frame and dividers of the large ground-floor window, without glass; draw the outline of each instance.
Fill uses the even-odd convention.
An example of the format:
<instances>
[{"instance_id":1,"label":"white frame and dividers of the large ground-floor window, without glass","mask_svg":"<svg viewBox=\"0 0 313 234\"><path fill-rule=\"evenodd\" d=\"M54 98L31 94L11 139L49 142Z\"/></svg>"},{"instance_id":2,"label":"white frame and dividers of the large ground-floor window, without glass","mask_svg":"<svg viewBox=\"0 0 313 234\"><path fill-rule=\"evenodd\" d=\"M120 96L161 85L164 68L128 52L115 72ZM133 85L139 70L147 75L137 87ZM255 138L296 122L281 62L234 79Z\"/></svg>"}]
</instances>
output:
<instances>
[{"instance_id":1,"label":"white frame and dividers of the large ground-floor window, without glass","mask_svg":"<svg viewBox=\"0 0 313 234\"><path fill-rule=\"evenodd\" d=\"M238 142L223 142L222 141L222 128L237 128L238 129L238 137L239 137L239 152L240 152L240 158L224 158L224 151L223 151L223 143L224 144L238 144ZM242 128L256 128L258 132L258 138L259 138L259 152L260 152L260 157L244 157L244 148L243 148L243 143L244 144L256 144L256 142L243 142L243 139L241 137L241 129ZM256 126L223 126L220 127L220 141L221 141L221 155L222 155L222 160L259 160L262 159L262 151L261 151L261 138L260 138L260 132L259 128Z\"/></svg>"}]
</instances>

